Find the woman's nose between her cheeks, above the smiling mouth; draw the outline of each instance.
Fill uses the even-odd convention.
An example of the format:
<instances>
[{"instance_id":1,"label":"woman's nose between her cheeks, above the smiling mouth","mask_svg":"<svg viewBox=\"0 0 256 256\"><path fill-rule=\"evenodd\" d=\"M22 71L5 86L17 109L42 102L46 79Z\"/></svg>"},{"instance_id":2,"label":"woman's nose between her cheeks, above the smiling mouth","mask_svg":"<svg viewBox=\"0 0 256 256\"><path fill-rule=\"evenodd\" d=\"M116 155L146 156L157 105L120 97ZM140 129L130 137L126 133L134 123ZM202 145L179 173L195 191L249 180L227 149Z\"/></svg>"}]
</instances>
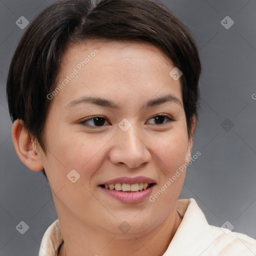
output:
<instances>
[{"instance_id":1,"label":"woman's nose between her cheeks, above the smiling mouth","mask_svg":"<svg viewBox=\"0 0 256 256\"><path fill-rule=\"evenodd\" d=\"M145 136L139 135L132 125L127 131L118 128L113 138L109 158L113 164L125 164L128 168L137 168L151 159Z\"/></svg>"}]
</instances>

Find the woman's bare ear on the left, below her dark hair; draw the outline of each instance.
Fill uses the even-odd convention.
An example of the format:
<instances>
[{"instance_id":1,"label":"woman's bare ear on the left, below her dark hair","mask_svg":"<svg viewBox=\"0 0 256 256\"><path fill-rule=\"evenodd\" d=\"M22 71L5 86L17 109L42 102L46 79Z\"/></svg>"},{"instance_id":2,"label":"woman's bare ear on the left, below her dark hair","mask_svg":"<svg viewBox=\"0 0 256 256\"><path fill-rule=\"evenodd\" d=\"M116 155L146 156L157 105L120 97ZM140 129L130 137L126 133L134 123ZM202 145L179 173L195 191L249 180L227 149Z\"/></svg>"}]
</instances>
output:
<instances>
[{"instance_id":1,"label":"woman's bare ear on the left, below her dark hair","mask_svg":"<svg viewBox=\"0 0 256 256\"><path fill-rule=\"evenodd\" d=\"M19 159L31 170L42 170L43 165L36 153L35 143L29 137L22 119L16 119L12 125L12 140Z\"/></svg>"}]
</instances>

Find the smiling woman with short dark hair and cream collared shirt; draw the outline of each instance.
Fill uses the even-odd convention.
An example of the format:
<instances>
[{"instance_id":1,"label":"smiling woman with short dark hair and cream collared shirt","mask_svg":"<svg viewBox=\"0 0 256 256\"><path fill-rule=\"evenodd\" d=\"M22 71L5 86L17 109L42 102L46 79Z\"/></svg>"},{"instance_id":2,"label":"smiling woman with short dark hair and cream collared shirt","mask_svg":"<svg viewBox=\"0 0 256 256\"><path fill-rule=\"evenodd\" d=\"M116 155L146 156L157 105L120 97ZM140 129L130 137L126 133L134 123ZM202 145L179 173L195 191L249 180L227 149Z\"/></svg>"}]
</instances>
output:
<instances>
[{"instance_id":1,"label":"smiling woman with short dark hair and cream collared shirt","mask_svg":"<svg viewBox=\"0 0 256 256\"><path fill-rule=\"evenodd\" d=\"M178 200L200 72L192 36L150 0L62 0L29 25L7 97L15 150L58 215L39 256L256 253Z\"/></svg>"}]
</instances>

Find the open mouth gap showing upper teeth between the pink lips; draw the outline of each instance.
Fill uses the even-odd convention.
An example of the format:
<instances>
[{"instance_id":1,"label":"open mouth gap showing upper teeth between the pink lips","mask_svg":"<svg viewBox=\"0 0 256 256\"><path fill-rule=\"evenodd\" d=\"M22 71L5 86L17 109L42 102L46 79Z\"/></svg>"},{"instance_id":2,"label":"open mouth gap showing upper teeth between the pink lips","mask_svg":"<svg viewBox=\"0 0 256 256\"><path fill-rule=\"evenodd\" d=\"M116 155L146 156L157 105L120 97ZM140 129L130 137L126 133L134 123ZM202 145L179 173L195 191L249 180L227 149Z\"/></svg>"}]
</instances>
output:
<instances>
[{"instance_id":1,"label":"open mouth gap showing upper teeth between the pink lips","mask_svg":"<svg viewBox=\"0 0 256 256\"><path fill-rule=\"evenodd\" d=\"M109 190L115 190L120 192L139 192L146 190L147 188L153 186L155 183L147 183L147 182L140 182L140 183L115 183L115 184L100 184L100 187L109 189Z\"/></svg>"}]
</instances>

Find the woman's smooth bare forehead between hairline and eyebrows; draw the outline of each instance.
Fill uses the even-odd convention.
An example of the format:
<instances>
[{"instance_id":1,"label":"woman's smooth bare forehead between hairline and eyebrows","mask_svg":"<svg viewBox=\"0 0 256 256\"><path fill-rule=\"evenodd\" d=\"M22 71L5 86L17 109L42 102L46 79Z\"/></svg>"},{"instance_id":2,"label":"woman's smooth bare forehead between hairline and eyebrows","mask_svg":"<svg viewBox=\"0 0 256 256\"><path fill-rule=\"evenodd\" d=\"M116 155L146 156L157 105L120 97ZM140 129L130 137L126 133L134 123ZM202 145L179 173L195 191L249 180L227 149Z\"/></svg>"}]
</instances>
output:
<instances>
[{"instance_id":1,"label":"woman's smooth bare forehead between hairline and eyebrows","mask_svg":"<svg viewBox=\"0 0 256 256\"><path fill-rule=\"evenodd\" d=\"M141 101L171 92L182 102L180 81L169 75L173 68L168 57L149 43L88 40L71 44L61 58L56 86L66 84L54 100L68 103L82 95L107 95L121 102L131 95L133 101Z\"/></svg>"}]
</instances>

